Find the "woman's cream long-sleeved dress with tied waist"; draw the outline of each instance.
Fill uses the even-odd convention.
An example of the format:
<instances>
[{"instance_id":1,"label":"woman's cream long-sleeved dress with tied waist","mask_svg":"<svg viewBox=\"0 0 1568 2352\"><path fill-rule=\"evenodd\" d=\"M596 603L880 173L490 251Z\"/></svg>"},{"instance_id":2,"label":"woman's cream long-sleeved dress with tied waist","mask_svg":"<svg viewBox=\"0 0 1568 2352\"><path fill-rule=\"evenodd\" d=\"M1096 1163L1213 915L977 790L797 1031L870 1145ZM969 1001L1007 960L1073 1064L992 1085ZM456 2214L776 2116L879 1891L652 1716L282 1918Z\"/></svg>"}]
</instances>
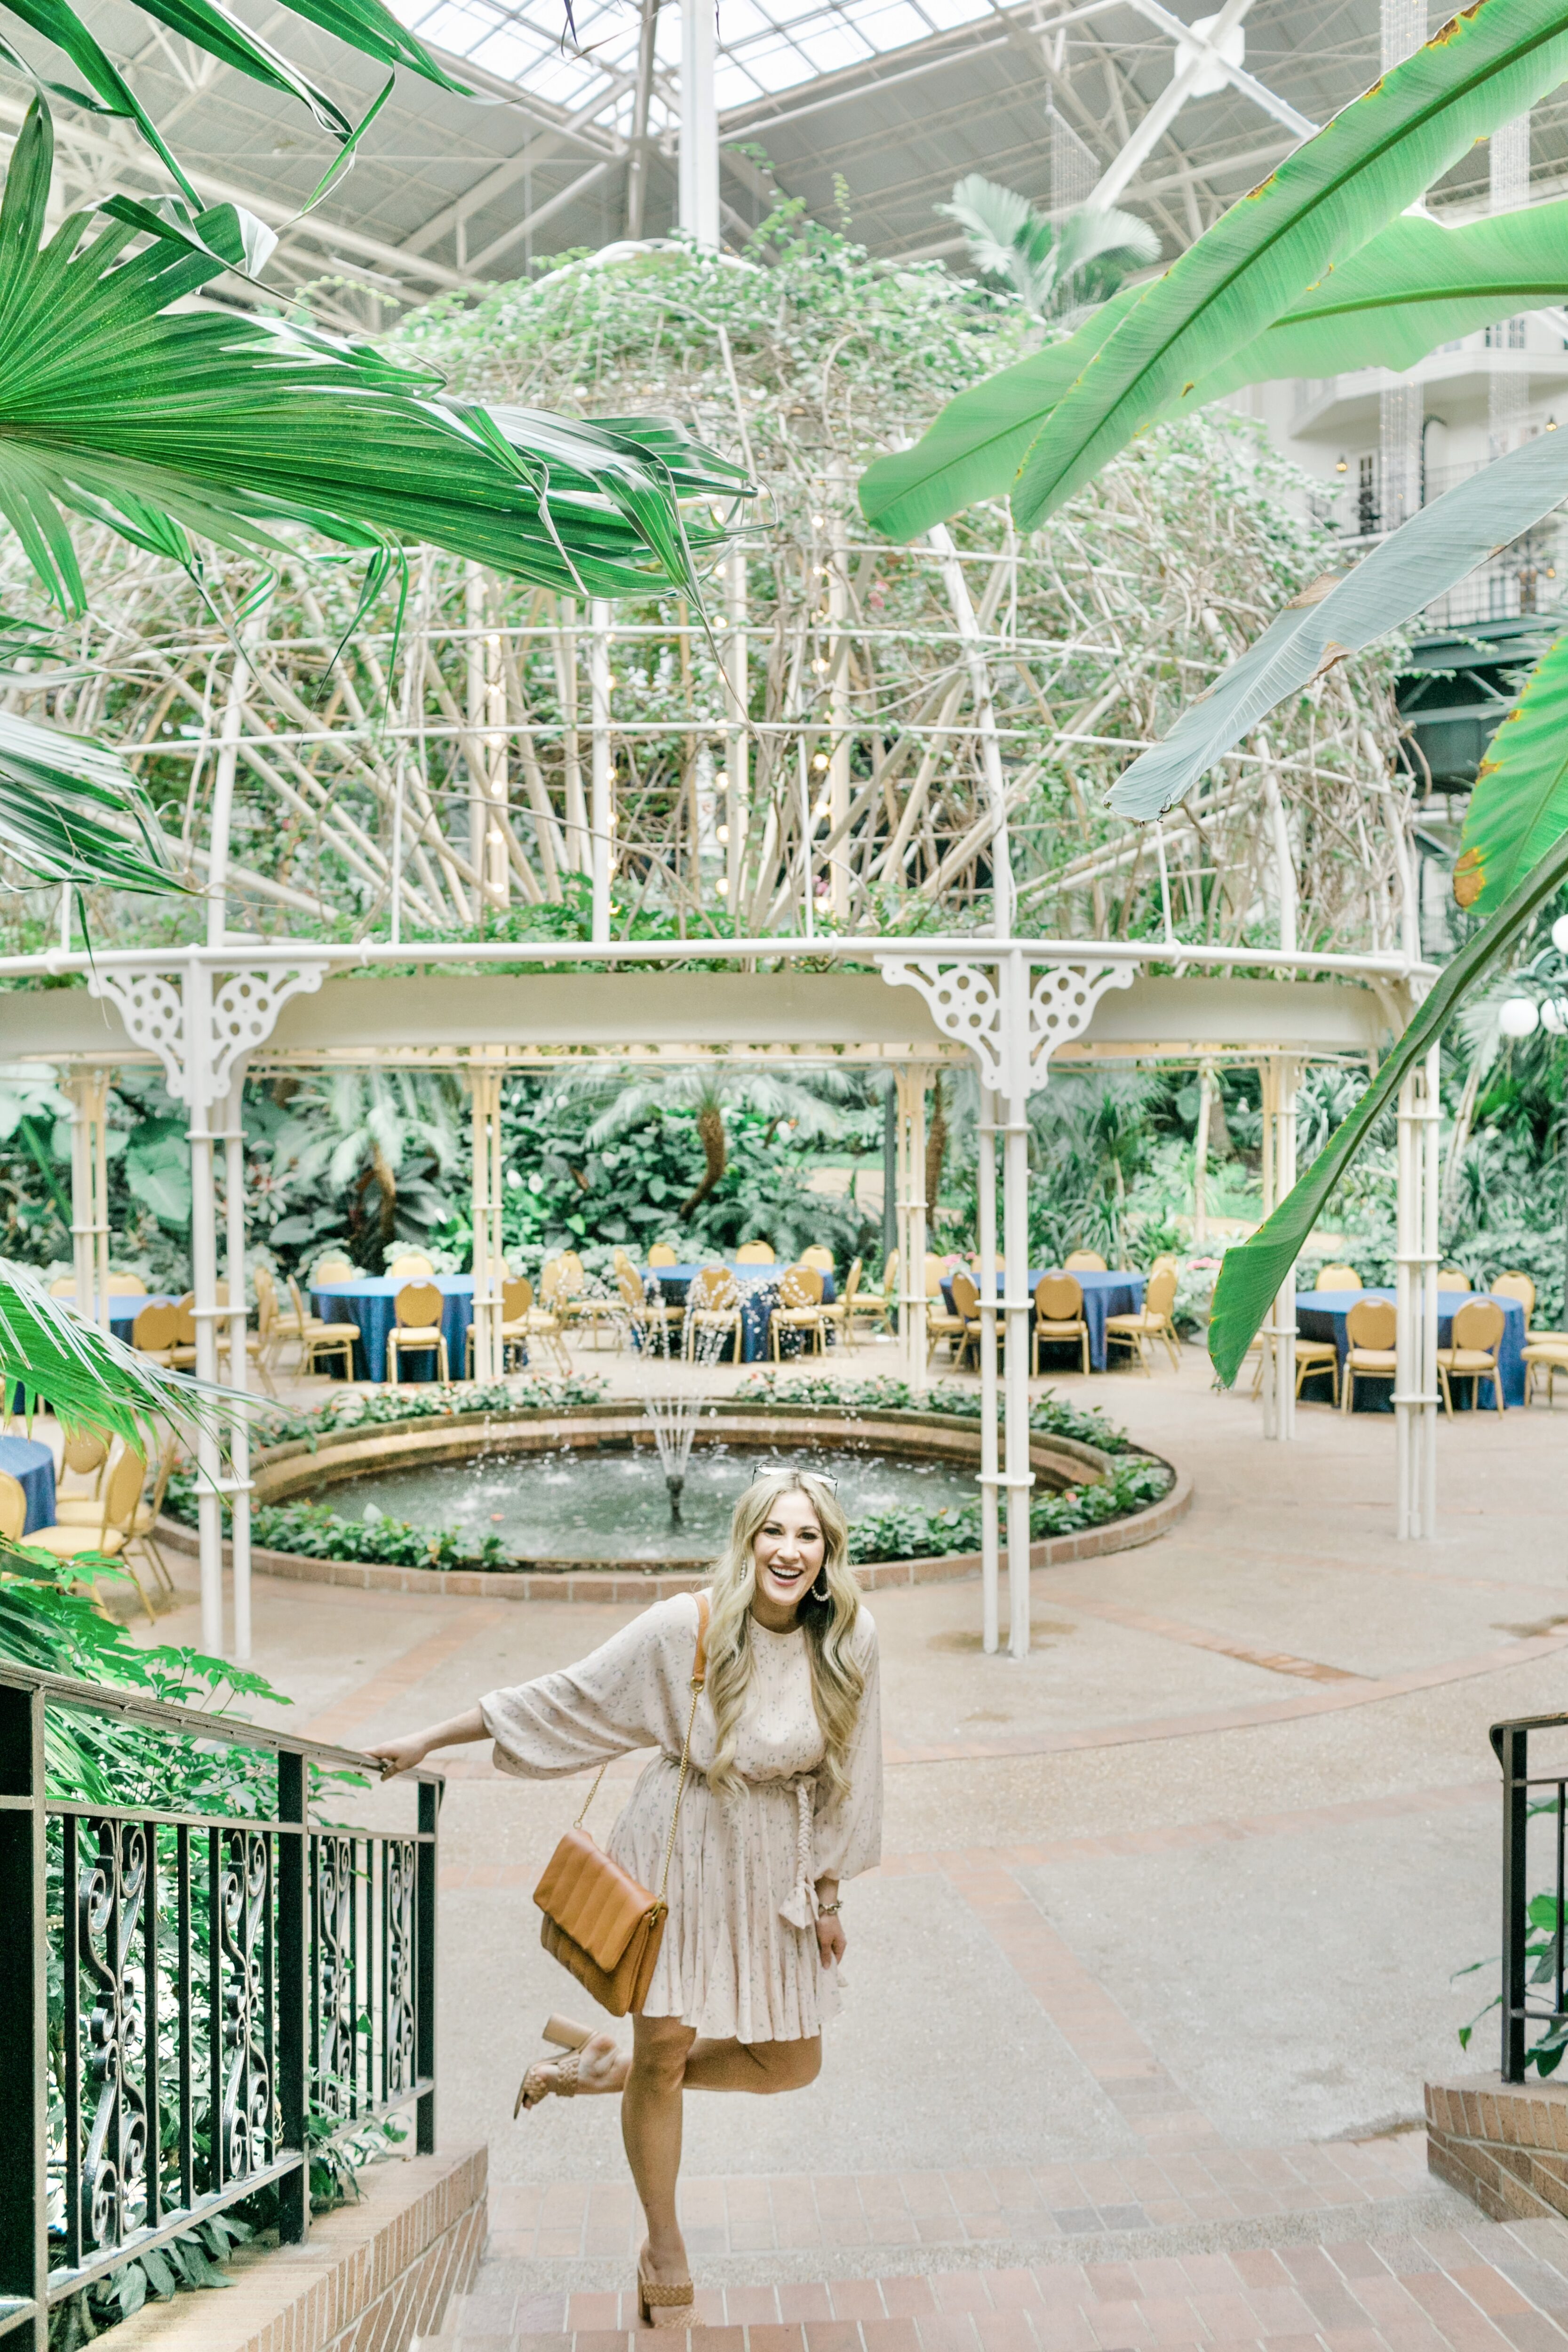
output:
<instances>
[{"instance_id":1,"label":"woman's cream long-sleeved dress with tied waist","mask_svg":"<svg viewBox=\"0 0 1568 2352\"><path fill-rule=\"evenodd\" d=\"M741 1788L708 1785L715 1719L708 1691L691 1724L691 1771L679 1809L663 1945L644 2013L701 2034L799 2042L837 2009L837 1969L816 1945L816 1879L851 1879L882 1853L882 1710L877 1628L860 1609L851 1635L865 1698L835 1797L820 1773L825 1740L811 1703L806 1635L750 1623L752 1682L736 1740ZM592 1771L635 1748L658 1748L607 1851L658 1891L691 1712L696 1597L658 1602L581 1665L480 1700L496 1766L527 1780Z\"/></svg>"}]
</instances>

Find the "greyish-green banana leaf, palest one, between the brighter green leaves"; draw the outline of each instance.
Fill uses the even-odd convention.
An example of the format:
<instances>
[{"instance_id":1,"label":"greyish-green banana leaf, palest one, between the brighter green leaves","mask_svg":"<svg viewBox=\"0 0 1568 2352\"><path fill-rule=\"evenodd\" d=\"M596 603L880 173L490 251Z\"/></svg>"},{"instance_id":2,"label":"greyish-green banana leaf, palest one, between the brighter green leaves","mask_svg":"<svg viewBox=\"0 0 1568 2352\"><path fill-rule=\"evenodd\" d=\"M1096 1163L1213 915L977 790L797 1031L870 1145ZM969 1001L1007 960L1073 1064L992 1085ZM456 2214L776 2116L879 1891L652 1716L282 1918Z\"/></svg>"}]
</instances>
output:
<instances>
[{"instance_id":1,"label":"greyish-green banana leaf, palest one, between the brighter green leaves","mask_svg":"<svg viewBox=\"0 0 1568 2352\"><path fill-rule=\"evenodd\" d=\"M1171 734L1133 760L1110 788L1110 807L1138 823L1161 816L1286 694L1399 628L1563 496L1568 433L1540 433L1422 506L1347 576L1312 581Z\"/></svg>"}]
</instances>

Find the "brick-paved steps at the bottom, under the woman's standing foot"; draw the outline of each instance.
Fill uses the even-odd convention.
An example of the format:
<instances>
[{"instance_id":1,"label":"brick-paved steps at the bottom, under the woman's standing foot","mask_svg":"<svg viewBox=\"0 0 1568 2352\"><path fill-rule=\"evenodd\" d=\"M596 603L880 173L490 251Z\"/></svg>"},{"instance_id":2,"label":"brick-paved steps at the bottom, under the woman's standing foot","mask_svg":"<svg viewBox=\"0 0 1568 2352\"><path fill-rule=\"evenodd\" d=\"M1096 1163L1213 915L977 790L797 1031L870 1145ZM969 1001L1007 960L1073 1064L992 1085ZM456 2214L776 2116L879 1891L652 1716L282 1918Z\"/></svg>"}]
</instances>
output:
<instances>
[{"instance_id":1,"label":"brick-paved steps at the bottom, under the woman's standing foot","mask_svg":"<svg viewBox=\"0 0 1568 2352\"><path fill-rule=\"evenodd\" d=\"M778 2230L764 2244L766 2232L752 2225L750 2249L736 2244L743 2232L733 2227L719 2249L717 2230L696 2223L698 2324L661 2336L682 2336L682 2352L1568 2352L1568 2225L1483 2220L1467 2199L1425 2180L1413 2164L1422 2152L1413 2136L1396 2164L1363 2166L1366 2187L1382 2194L1291 2199L1286 2159L1302 2154L1291 2150L1279 2154L1272 2211L1190 2213L1164 2225L1145 2216L1133 2227L1058 2227L1053 2237L1020 2232L1020 2213L987 2211L971 2213L980 2230L954 2237L940 2220L903 2246L780 2246ZM1269 2154L1239 2161L1267 2171ZM696 2211L712 2187L693 2183ZM726 2187L752 2211L759 2190L778 2204L778 2183ZM849 2194L856 2183L825 2180L823 2190L825 2206L842 2213L865 2204L863 2185L858 2197ZM574 2194L494 2192L491 2251L428 2345L632 2352L635 2246L628 2239L609 2253L623 2225L604 2211L604 2227L590 2223L569 2256L562 2209ZM614 2197L595 2194L602 2206ZM515 2225L524 2199L538 2199L543 2213L529 2251ZM698 2251L703 2237L708 2253Z\"/></svg>"}]
</instances>

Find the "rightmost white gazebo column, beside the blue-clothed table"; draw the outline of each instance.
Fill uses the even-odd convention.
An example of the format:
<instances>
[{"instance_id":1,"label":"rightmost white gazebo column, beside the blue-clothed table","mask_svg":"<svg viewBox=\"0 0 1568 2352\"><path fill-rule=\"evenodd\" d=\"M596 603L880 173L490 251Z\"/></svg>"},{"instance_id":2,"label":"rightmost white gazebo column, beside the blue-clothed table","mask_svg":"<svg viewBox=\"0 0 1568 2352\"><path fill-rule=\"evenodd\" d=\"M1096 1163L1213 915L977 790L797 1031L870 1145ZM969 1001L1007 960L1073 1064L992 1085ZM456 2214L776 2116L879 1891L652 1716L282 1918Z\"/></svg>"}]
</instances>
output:
<instances>
[{"instance_id":1,"label":"rightmost white gazebo column, beside the blue-clothed table","mask_svg":"<svg viewBox=\"0 0 1568 2352\"><path fill-rule=\"evenodd\" d=\"M1394 1374L1394 1534L1406 1543L1436 1534L1436 1049L1399 1089L1399 1247Z\"/></svg>"}]
</instances>

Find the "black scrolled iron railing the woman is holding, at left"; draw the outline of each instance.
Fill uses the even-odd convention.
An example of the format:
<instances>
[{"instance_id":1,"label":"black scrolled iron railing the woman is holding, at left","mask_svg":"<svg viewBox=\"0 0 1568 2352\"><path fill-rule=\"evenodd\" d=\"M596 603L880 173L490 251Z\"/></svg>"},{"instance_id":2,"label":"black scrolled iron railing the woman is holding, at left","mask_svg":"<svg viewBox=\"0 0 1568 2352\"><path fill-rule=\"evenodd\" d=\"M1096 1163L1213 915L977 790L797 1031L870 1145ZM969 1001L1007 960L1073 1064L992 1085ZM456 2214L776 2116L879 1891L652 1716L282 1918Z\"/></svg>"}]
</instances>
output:
<instances>
[{"instance_id":1,"label":"black scrolled iron railing the woman is holding, at left","mask_svg":"<svg viewBox=\"0 0 1568 2352\"><path fill-rule=\"evenodd\" d=\"M59 1795L61 1740L125 1802ZM45 2352L61 2298L266 2187L303 2239L313 2154L397 2110L435 2147L442 1783L355 1769L0 1665L0 2338ZM414 1820L322 1818L355 1799Z\"/></svg>"}]
</instances>

